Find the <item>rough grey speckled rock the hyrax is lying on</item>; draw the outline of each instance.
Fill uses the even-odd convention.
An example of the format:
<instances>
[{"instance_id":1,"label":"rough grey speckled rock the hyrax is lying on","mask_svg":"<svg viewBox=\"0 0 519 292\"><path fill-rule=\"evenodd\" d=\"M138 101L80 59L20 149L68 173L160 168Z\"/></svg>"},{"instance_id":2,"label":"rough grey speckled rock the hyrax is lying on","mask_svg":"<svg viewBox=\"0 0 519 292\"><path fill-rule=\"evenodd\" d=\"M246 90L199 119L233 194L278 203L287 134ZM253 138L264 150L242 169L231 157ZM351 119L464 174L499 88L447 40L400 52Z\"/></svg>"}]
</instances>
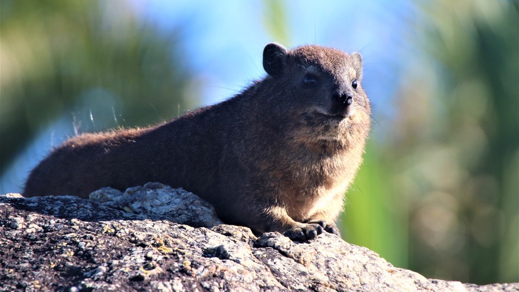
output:
<instances>
[{"instance_id":1,"label":"rough grey speckled rock the hyrax is lying on","mask_svg":"<svg viewBox=\"0 0 519 292\"><path fill-rule=\"evenodd\" d=\"M0 290L519 291L428 280L333 234L255 237L157 183L90 198L0 195Z\"/></svg>"}]
</instances>

